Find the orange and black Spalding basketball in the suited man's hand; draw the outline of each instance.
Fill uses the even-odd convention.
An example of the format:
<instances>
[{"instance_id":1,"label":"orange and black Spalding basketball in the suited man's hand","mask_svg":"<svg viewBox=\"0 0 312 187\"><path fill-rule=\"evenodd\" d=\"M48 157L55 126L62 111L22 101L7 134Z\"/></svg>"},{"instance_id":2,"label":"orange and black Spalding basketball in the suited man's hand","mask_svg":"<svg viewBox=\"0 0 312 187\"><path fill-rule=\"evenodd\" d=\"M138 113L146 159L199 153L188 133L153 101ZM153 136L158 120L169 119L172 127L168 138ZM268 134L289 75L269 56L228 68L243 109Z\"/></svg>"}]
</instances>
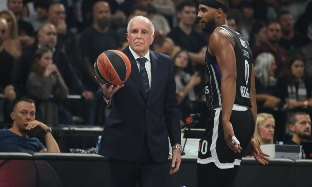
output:
<instances>
[{"instance_id":1,"label":"orange and black Spalding basketball in the suited man's hand","mask_svg":"<svg viewBox=\"0 0 312 187\"><path fill-rule=\"evenodd\" d=\"M108 86L122 85L129 78L131 64L128 57L119 50L107 50L94 63L96 78Z\"/></svg>"}]
</instances>

